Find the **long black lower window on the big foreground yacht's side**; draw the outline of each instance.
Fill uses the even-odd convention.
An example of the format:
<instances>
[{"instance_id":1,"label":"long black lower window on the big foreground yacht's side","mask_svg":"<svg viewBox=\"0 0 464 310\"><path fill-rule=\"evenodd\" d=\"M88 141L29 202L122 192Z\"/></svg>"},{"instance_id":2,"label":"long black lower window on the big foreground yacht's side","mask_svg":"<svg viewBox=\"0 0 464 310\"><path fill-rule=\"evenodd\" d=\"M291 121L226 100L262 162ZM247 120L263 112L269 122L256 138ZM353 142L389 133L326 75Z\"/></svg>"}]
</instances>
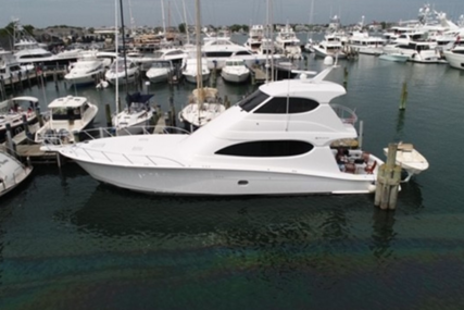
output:
<instances>
[{"instance_id":1,"label":"long black lower window on the big foreground yacht's side","mask_svg":"<svg viewBox=\"0 0 464 310\"><path fill-rule=\"evenodd\" d=\"M298 140L251 141L228 146L216 154L237 157L292 157L306 153L313 145Z\"/></svg>"}]
</instances>

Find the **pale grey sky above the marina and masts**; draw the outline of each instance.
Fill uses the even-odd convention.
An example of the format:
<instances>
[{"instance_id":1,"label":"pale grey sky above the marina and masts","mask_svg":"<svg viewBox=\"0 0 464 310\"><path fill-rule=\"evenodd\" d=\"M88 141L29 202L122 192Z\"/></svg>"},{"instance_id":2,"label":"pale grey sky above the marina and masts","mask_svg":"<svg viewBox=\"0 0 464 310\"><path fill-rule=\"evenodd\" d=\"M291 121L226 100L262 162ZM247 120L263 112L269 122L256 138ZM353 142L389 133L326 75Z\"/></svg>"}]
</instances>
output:
<instances>
[{"instance_id":1,"label":"pale grey sky above the marina and masts","mask_svg":"<svg viewBox=\"0 0 464 310\"><path fill-rule=\"evenodd\" d=\"M115 1L120 0L0 0L0 27L12 17L24 25L37 28L53 25L100 27L112 26ZM162 0L122 0L124 23L136 26L162 26ZM274 23L328 23L338 15L342 25L354 24L365 16L365 22L399 22L417 17L423 0L201 0L203 25L265 24L266 3L273 3ZM314 10L311 13L311 3ZM195 22L195 0L163 0L165 24L184 23L185 2L189 24ZM446 12L452 20L464 14L463 0L429 2L437 11ZM131 14L130 14L131 12ZM168 13L170 12L170 13ZM121 21L120 21L121 25Z\"/></svg>"}]
</instances>

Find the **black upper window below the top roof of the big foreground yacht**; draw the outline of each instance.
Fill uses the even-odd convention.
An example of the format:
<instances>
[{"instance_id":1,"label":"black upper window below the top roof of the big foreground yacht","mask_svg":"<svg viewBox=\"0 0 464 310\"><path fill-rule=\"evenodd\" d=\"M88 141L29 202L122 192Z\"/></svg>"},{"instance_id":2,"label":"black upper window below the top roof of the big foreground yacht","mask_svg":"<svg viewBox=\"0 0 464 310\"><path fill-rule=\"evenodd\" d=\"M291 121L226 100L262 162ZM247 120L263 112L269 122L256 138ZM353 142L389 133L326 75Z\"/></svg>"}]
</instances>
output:
<instances>
[{"instance_id":1,"label":"black upper window below the top roof of the big foreground yacht","mask_svg":"<svg viewBox=\"0 0 464 310\"><path fill-rule=\"evenodd\" d=\"M317 101L308 98L296 97L275 97L259 108L254 113L258 114L293 114L312 111L319 107ZM288 111L287 111L288 109Z\"/></svg>"}]
</instances>

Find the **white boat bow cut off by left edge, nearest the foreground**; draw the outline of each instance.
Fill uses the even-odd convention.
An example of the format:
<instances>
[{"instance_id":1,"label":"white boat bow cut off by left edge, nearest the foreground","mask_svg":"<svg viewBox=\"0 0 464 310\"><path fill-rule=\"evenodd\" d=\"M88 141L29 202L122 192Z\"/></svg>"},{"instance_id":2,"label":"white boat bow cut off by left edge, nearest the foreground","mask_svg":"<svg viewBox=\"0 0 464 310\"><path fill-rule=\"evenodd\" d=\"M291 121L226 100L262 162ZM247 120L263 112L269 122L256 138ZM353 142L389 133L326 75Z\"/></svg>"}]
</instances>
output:
<instances>
[{"instance_id":1,"label":"white boat bow cut off by left edge, nearest the foreground","mask_svg":"<svg viewBox=\"0 0 464 310\"><path fill-rule=\"evenodd\" d=\"M26 181L32 172L32 166L24 165L5 152L0 152L0 197Z\"/></svg>"}]
</instances>

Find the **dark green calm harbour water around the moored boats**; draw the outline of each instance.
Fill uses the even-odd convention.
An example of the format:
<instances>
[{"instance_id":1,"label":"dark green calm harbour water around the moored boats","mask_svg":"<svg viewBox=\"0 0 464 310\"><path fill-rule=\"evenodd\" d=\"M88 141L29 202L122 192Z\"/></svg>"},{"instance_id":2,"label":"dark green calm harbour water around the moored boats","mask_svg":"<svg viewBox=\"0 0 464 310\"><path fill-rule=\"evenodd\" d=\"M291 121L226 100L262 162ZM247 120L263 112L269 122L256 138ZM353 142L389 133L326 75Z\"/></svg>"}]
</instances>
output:
<instances>
[{"instance_id":1,"label":"dark green calm harbour water around the moored boats","mask_svg":"<svg viewBox=\"0 0 464 310\"><path fill-rule=\"evenodd\" d=\"M310 57L309 70L322 67ZM430 162L397 211L377 210L371 195L156 197L75 164L36 166L0 200L0 309L463 309L464 72L361 55L328 79L342 83L344 67L348 95L336 102L364 121L364 148L381 156L411 141ZM233 102L253 90L217 84ZM150 85L164 111L192 89ZM97 126L114 102L113 88L61 84L57 94L49 83L25 94L43 109L87 96L100 107Z\"/></svg>"}]
</instances>

